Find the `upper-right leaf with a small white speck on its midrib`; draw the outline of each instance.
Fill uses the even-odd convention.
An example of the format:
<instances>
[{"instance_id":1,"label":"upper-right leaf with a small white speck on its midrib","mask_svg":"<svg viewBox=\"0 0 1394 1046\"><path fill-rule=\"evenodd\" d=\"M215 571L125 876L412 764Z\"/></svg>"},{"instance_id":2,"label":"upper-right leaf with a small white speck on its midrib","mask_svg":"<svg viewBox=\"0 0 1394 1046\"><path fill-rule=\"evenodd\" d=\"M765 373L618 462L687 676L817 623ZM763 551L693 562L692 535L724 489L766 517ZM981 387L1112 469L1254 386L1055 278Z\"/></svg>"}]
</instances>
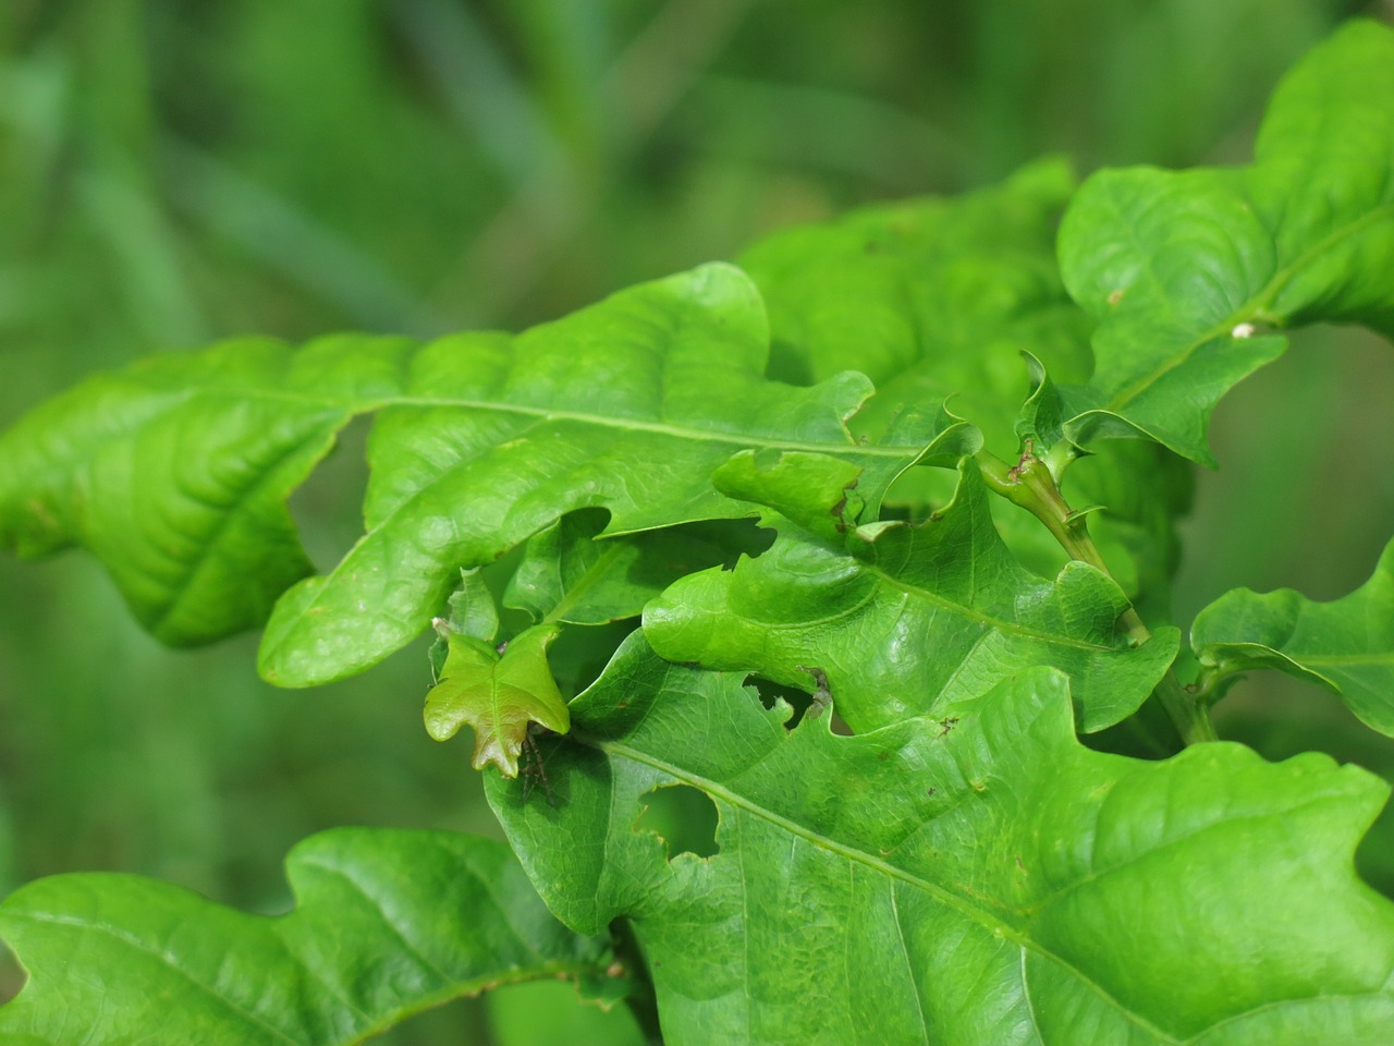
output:
<instances>
[{"instance_id":1,"label":"upper-right leaf with a small white speck on its midrib","mask_svg":"<svg viewBox=\"0 0 1394 1046\"><path fill-rule=\"evenodd\" d=\"M1069 438L1140 434L1214 464L1210 411L1287 346L1266 332L1394 333L1394 32L1358 21L1312 50L1274 93L1248 167L1094 174L1059 255L1100 322Z\"/></svg>"}]
</instances>

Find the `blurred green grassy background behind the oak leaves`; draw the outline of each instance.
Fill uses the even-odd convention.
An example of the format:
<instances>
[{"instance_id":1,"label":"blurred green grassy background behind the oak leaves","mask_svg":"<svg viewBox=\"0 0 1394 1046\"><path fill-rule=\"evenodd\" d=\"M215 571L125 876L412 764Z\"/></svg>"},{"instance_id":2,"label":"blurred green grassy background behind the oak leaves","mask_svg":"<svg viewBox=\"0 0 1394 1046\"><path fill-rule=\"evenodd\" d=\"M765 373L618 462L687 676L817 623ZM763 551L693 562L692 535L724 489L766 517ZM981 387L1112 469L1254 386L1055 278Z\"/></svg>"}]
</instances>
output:
<instances>
[{"instance_id":1,"label":"blurred green grassy background behind the oak leaves","mask_svg":"<svg viewBox=\"0 0 1394 1046\"><path fill-rule=\"evenodd\" d=\"M0 423L86 371L244 332L520 328L859 202L1043 153L1246 158L1331 0L6 0ZM1313 332L1216 416L1179 580L1344 594L1394 533L1394 358ZM355 537L340 455L297 497ZM336 824L496 833L467 742L421 727L424 649L275 692L252 637L170 653L92 562L0 562L0 894L116 869L261 911ZM1334 699L1270 678L1220 727L1394 775ZM1394 890L1394 845L1362 852ZM0 961L0 999L18 986ZM622 1043L565 986L392 1043Z\"/></svg>"}]
</instances>

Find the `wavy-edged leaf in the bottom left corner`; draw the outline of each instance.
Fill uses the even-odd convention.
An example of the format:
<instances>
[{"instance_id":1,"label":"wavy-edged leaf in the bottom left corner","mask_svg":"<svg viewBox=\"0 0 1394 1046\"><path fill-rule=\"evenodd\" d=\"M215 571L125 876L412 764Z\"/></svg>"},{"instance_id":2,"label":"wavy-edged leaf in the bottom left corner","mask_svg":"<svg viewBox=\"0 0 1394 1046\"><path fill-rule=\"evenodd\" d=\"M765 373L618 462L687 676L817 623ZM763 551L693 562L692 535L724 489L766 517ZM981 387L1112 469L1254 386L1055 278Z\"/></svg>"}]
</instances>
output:
<instances>
[{"instance_id":1,"label":"wavy-edged leaf in the bottom left corner","mask_svg":"<svg viewBox=\"0 0 1394 1046\"><path fill-rule=\"evenodd\" d=\"M605 976L602 941L556 922L491 840L337 828L286 872L298 904L276 919L135 876L31 883L0 905L29 971L0 1039L347 1046L498 985Z\"/></svg>"}]
</instances>

